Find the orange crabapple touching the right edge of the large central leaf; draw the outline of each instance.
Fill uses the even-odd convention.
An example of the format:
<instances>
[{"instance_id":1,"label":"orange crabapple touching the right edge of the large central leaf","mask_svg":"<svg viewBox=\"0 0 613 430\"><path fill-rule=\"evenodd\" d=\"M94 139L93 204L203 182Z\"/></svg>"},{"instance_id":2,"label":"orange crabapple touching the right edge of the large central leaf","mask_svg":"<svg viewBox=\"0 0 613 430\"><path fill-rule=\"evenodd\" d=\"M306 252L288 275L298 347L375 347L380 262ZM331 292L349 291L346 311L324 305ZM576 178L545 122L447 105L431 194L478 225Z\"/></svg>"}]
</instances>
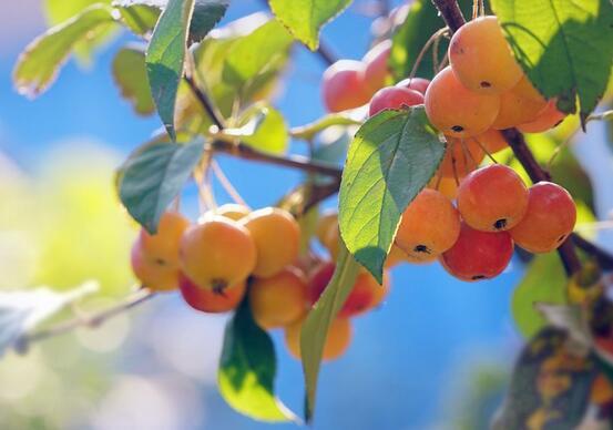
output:
<instances>
[{"instance_id":1,"label":"orange crabapple touching the right edge of the large central leaf","mask_svg":"<svg viewBox=\"0 0 613 430\"><path fill-rule=\"evenodd\" d=\"M396 245L410 262L428 262L449 249L460 235L460 215L442 193L423 188L407 206Z\"/></svg>"}]
</instances>

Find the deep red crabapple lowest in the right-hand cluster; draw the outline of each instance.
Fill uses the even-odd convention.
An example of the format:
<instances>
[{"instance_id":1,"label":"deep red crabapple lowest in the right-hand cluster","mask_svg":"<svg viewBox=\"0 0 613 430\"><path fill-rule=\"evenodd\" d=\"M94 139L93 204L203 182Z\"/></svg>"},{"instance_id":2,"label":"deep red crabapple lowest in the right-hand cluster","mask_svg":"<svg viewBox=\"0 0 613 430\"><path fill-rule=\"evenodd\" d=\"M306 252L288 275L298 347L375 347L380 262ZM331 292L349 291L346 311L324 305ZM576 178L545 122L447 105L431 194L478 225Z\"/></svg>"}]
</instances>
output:
<instances>
[{"instance_id":1,"label":"deep red crabapple lowest in the right-hand cluster","mask_svg":"<svg viewBox=\"0 0 613 430\"><path fill-rule=\"evenodd\" d=\"M440 262L454 277L472 281L498 276L512 256L509 232L479 232L462 223L458 240L442 254Z\"/></svg>"}]
</instances>

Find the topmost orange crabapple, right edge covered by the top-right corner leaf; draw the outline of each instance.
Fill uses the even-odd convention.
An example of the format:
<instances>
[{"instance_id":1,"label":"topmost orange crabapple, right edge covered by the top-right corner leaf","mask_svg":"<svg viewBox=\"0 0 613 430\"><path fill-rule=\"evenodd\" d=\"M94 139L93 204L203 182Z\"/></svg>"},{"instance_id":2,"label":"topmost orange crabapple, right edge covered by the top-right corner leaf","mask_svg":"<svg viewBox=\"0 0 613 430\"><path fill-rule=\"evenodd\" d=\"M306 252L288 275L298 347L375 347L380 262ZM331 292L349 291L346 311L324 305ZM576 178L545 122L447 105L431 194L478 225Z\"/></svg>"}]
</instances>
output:
<instances>
[{"instance_id":1,"label":"topmost orange crabapple, right edge covered by the top-right corner leaf","mask_svg":"<svg viewBox=\"0 0 613 430\"><path fill-rule=\"evenodd\" d=\"M460 27L449 42L449 62L470 91L501 94L523 76L497 17L480 17Z\"/></svg>"}]
</instances>

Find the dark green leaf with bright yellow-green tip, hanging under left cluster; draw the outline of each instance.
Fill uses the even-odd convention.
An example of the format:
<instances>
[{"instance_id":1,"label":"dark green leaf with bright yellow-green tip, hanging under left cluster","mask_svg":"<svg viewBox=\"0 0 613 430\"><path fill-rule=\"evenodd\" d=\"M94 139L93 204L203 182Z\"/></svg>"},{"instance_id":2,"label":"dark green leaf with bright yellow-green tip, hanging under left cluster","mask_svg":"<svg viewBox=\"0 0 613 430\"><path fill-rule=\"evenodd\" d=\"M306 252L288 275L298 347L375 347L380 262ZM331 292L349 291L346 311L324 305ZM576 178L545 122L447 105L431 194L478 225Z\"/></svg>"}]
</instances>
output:
<instances>
[{"instance_id":1,"label":"dark green leaf with bright yellow-green tip, hanging under left cluster","mask_svg":"<svg viewBox=\"0 0 613 430\"><path fill-rule=\"evenodd\" d=\"M259 421L297 421L274 393L277 371L275 348L255 324L248 300L228 321L219 360L219 392L236 411Z\"/></svg>"}]
</instances>

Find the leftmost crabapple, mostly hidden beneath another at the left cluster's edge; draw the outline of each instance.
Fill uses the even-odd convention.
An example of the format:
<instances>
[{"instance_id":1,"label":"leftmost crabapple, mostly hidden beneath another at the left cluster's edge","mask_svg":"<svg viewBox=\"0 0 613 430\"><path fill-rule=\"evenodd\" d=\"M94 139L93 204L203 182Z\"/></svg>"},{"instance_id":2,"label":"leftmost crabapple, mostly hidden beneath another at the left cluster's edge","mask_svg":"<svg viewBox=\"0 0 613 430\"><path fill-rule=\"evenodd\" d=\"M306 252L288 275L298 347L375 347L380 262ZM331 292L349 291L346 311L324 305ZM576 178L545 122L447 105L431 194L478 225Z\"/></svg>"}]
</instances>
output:
<instances>
[{"instance_id":1,"label":"leftmost crabapple, mostly hidden beneath another at the left cluster's edge","mask_svg":"<svg viewBox=\"0 0 613 430\"><path fill-rule=\"evenodd\" d=\"M178 286L178 267L146 258L137 239L132 246L130 263L141 285L152 291L172 291Z\"/></svg>"}]
</instances>

